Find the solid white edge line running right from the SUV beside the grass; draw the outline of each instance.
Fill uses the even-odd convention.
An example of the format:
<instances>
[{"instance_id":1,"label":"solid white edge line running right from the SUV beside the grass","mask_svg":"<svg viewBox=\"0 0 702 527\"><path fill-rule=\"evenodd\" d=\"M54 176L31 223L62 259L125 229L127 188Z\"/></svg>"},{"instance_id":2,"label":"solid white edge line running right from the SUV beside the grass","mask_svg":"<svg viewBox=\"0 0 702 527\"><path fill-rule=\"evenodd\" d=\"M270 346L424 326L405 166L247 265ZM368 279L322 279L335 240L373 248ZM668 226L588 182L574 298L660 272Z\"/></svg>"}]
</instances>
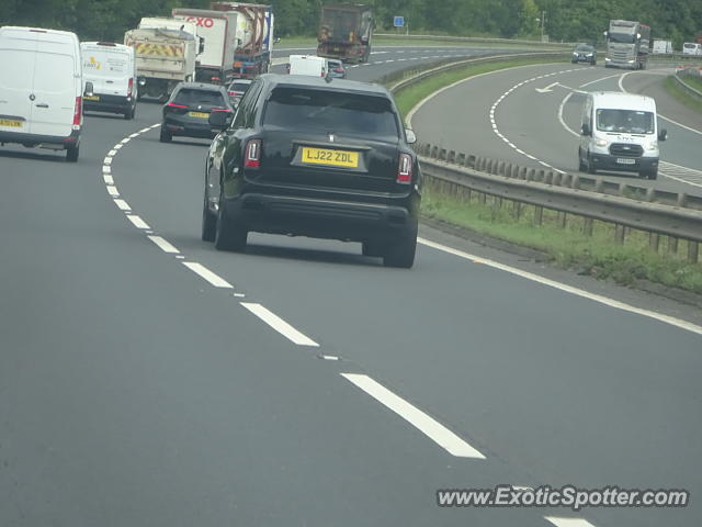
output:
<instances>
[{"instance_id":1,"label":"solid white edge line running right from the SUV beside the grass","mask_svg":"<svg viewBox=\"0 0 702 527\"><path fill-rule=\"evenodd\" d=\"M687 332L697 333L698 335L702 335L702 326L698 326L692 324L691 322L682 321L680 318L676 318L673 316L664 315L663 313L656 313L654 311L642 310L639 307L635 307L630 304L625 304L624 302L620 302L619 300L609 299L607 296L602 296L600 294L590 293L588 291L584 291L582 289L574 288L571 285L566 285L565 283L556 282L555 280L550 280L544 277L540 277L539 274L534 274L532 272L522 271L521 269L517 269L514 267L506 266L503 264L499 264L497 261L488 260L485 258L480 258L479 256L474 256L468 253L464 253L463 250L454 249L453 247L449 247L442 244L438 244L435 242L431 242L426 238L417 238L417 242L426 245L427 247L431 247L437 250L441 250L443 253L448 253L453 256L457 256L460 258L464 258L466 260L471 260L475 264L484 264L488 267L492 267L494 269L499 269L501 271L509 272L510 274L516 274L521 278L525 278L528 280L541 283L543 285L547 285L550 288L558 289L561 291L565 291L566 293L575 294L577 296L582 296L584 299L589 299L595 302L599 302L600 304L609 305L610 307L614 307L616 310L626 311L630 313L635 313L637 315L647 316L648 318L654 318L658 322L663 322L665 324L669 324L675 327L679 327L680 329L684 329Z\"/></svg>"}]
</instances>

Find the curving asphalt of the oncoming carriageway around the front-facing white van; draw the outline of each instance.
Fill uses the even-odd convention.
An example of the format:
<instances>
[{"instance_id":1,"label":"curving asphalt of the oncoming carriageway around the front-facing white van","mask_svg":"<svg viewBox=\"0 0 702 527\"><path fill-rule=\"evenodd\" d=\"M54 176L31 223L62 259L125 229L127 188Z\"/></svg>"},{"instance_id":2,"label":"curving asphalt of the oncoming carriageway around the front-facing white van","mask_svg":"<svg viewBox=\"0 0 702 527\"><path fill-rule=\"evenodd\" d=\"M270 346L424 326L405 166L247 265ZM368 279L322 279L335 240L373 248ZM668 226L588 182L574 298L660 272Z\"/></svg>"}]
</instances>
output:
<instances>
[{"instance_id":1,"label":"curving asphalt of the oncoming carriageway around the front-facing white van","mask_svg":"<svg viewBox=\"0 0 702 527\"><path fill-rule=\"evenodd\" d=\"M656 99L659 126L669 133L669 141L660 143L658 180L642 180L629 172L599 170L598 175L610 181L702 195L702 116L665 91L663 81L671 72L653 65L632 72L569 63L501 70L441 92L411 122L424 143L576 173L584 92L648 94Z\"/></svg>"}]
</instances>

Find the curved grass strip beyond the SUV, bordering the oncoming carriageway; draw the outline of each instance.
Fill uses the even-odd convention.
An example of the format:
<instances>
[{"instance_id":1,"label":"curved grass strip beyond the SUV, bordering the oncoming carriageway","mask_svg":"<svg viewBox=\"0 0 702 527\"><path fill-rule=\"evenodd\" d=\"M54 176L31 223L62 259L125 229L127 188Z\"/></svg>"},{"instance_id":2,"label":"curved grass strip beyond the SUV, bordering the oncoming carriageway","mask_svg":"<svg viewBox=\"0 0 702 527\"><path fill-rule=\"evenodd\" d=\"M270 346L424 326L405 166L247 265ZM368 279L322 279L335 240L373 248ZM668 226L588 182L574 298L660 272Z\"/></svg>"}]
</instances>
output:
<instances>
[{"instance_id":1,"label":"curved grass strip beyond the SUV, bordering the oncoming carriageway","mask_svg":"<svg viewBox=\"0 0 702 527\"><path fill-rule=\"evenodd\" d=\"M465 68L456 69L454 71L446 71L445 74L438 74L431 78L419 82L418 85L410 86L399 93L395 94L395 103L399 109L403 119L407 116L409 111L415 108L419 101L434 91L456 82L462 79L475 77L476 75L487 74L489 71L497 71L499 69L513 68L516 66L528 66L532 64L551 64L558 61L567 61L567 58L563 60L554 60L553 58L514 58L506 59L497 63L485 63L466 66Z\"/></svg>"}]
</instances>

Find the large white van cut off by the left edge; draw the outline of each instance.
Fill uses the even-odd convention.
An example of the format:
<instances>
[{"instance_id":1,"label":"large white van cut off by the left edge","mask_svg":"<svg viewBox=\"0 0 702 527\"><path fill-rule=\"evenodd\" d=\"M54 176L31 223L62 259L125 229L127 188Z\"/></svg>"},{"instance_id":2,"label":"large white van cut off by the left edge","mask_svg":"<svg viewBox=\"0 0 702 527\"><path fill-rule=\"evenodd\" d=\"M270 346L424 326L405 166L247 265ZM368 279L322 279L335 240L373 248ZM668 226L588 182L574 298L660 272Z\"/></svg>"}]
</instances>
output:
<instances>
[{"instance_id":1,"label":"large white van cut off by the left edge","mask_svg":"<svg viewBox=\"0 0 702 527\"><path fill-rule=\"evenodd\" d=\"M0 27L0 144L66 150L78 160L83 125L75 33Z\"/></svg>"}]
</instances>

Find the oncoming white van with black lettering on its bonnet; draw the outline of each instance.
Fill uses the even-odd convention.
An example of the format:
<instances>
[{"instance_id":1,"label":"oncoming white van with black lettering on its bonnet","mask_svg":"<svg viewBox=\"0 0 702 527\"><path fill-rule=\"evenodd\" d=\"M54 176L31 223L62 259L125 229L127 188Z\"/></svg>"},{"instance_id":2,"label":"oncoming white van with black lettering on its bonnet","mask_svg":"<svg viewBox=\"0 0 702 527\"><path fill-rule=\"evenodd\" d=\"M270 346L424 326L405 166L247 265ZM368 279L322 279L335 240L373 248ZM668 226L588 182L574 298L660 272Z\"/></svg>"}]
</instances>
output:
<instances>
[{"instance_id":1,"label":"oncoming white van with black lettering on its bonnet","mask_svg":"<svg viewBox=\"0 0 702 527\"><path fill-rule=\"evenodd\" d=\"M650 97L621 91L589 93L581 124L579 170L624 170L648 179L658 177L658 142L666 141L668 132L658 130L656 101Z\"/></svg>"}]
</instances>

